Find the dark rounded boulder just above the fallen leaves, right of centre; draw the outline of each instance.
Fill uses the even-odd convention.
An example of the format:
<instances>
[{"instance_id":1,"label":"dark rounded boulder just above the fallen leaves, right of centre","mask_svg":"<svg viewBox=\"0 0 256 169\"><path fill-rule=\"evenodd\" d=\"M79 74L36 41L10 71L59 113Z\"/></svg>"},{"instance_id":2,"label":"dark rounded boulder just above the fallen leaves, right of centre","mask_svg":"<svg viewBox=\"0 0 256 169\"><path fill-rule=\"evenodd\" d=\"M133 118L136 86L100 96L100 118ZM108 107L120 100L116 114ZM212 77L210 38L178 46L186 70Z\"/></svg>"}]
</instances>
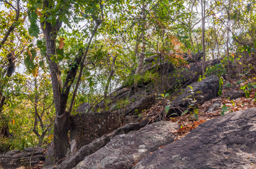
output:
<instances>
[{"instance_id":1,"label":"dark rounded boulder just above the fallen leaves, right of centre","mask_svg":"<svg viewBox=\"0 0 256 169\"><path fill-rule=\"evenodd\" d=\"M216 97L219 91L219 78L216 75L211 75L200 82L191 84L191 87L187 87L180 96L172 101L167 117L173 113L180 115L182 112L177 107L187 108L189 105L202 104L204 101ZM191 101L195 102L192 103Z\"/></svg>"}]
</instances>

